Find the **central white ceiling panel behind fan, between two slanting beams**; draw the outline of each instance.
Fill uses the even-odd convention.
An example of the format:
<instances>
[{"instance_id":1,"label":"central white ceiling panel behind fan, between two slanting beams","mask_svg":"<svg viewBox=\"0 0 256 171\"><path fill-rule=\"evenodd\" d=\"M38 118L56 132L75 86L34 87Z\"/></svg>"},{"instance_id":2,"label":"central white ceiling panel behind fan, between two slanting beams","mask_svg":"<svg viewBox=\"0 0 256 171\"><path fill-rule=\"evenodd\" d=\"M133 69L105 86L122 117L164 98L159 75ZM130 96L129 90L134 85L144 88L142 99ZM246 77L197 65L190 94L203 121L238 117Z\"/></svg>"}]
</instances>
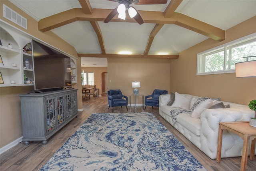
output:
<instances>
[{"instance_id":1,"label":"central white ceiling panel behind fan, between two slanting beams","mask_svg":"<svg viewBox=\"0 0 256 171\"><path fill-rule=\"evenodd\" d=\"M155 24L98 22L106 46L107 54L119 51L131 51L133 54L143 54L150 32Z\"/></svg>"}]
</instances>

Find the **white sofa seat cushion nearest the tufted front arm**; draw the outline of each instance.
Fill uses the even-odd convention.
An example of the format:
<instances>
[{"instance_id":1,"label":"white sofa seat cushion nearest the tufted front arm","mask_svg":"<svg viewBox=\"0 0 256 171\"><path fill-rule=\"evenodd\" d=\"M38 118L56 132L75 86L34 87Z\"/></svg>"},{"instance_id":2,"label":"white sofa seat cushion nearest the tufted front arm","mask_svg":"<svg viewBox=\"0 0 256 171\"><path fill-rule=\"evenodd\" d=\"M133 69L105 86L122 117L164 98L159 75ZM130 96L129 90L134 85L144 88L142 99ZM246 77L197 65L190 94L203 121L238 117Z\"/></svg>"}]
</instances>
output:
<instances>
[{"instance_id":1,"label":"white sofa seat cushion nearest the tufted front arm","mask_svg":"<svg viewBox=\"0 0 256 171\"><path fill-rule=\"evenodd\" d=\"M180 123L194 134L200 135L201 120L198 118L192 118L190 113L178 114L176 122Z\"/></svg>"}]
</instances>

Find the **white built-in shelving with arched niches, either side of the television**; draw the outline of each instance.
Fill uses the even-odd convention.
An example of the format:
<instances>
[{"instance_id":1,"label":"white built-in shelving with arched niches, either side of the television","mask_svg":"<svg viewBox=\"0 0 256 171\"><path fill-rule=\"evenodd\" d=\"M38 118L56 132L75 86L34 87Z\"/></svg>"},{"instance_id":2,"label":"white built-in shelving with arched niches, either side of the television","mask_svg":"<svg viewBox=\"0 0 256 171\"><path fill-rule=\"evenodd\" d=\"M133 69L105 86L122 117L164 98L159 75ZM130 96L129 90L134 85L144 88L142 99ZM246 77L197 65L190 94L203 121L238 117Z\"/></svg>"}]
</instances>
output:
<instances>
[{"instance_id":1,"label":"white built-in shelving with arched niches, either side of the television","mask_svg":"<svg viewBox=\"0 0 256 171\"><path fill-rule=\"evenodd\" d=\"M34 85L32 54L24 52L24 46L31 48L31 37L0 20L0 40L0 87ZM8 47L9 43L12 44L11 48ZM24 67L26 59L30 62L29 68ZM72 84L76 84L76 58L70 58L70 61ZM24 81L24 75L30 83Z\"/></svg>"}]
</instances>

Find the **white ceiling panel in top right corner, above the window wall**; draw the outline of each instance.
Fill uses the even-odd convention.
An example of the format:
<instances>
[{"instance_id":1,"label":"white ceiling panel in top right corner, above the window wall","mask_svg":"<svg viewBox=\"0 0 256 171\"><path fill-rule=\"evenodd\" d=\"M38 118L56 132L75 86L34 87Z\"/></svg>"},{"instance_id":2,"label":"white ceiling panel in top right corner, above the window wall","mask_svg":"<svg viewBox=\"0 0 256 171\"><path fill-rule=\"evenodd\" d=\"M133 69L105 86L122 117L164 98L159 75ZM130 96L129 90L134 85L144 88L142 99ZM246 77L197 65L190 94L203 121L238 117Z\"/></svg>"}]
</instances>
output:
<instances>
[{"instance_id":1,"label":"white ceiling panel in top right corner, above the window wall","mask_svg":"<svg viewBox=\"0 0 256 171\"><path fill-rule=\"evenodd\" d=\"M256 0L185 0L176 10L215 27L227 30L256 15ZM246 9L246 10L244 10Z\"/></svg>"}]
</instances>

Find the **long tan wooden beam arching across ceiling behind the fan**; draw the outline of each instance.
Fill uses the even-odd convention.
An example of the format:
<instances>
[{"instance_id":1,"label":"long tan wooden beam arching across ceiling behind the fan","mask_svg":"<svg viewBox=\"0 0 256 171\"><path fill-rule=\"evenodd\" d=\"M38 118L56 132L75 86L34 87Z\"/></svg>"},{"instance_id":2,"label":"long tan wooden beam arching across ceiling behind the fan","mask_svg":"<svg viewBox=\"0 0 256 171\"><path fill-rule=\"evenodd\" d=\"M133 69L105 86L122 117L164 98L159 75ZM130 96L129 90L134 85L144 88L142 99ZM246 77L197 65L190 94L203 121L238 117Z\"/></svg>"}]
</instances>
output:
<instances>
[{"instance_id":1,"label":"long tan wooden beam arching across ceiling behind the fan","mask_svg":"<svg viewBox=\"0 0 256 171\"><path fill-rule=\"evenodd\" d=\"M111 12L110 9L92 9L92 14L84 14L82 8L73 8L47 18L43 18L38 22L38 30L46 32L66 24L82 20L82 21L104 21L106 16ZM174 12L170 18L164 17L164 12L156 11L138 11L142 16L144 23L154 24L177 24L178 26L187 28L204 36L208 36L214 40L225 40L225 31L214 27L210 24L201 22L194 18ZM133 18L121 20L115 16L111 22L136 22Z\"/></svg>"}]
</instances>

